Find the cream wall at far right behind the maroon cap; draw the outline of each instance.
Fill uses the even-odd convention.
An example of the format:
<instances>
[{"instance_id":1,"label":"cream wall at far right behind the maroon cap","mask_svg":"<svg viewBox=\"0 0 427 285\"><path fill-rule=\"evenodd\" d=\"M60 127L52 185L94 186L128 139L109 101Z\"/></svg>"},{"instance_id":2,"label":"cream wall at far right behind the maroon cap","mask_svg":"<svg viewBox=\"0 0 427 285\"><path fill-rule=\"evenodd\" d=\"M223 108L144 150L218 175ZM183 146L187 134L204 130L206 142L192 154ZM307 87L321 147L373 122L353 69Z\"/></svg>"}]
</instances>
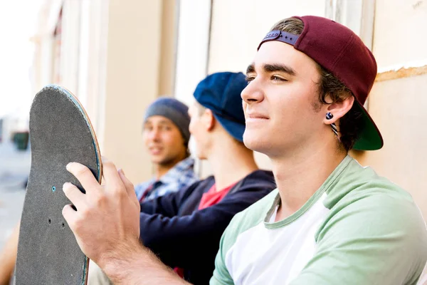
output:
<instances>
[{"instance_id":1,"label":"cream wall at far right behind the maroon cap","mask_svg":"<svg viewBox=\"0 0 427 285\"><path fill-rule=\"evenodd\" d=\"M425 1L376 1L373 52L379 71L388 76L384 81L383 73L377 77L369 113L384 147L358 159L411 192L427 219L427 38L420 36L425 26ZM407 69L396 72L401 67ZM424 74L412 76L416 71Z\"/></svg>"}]
</instances>

